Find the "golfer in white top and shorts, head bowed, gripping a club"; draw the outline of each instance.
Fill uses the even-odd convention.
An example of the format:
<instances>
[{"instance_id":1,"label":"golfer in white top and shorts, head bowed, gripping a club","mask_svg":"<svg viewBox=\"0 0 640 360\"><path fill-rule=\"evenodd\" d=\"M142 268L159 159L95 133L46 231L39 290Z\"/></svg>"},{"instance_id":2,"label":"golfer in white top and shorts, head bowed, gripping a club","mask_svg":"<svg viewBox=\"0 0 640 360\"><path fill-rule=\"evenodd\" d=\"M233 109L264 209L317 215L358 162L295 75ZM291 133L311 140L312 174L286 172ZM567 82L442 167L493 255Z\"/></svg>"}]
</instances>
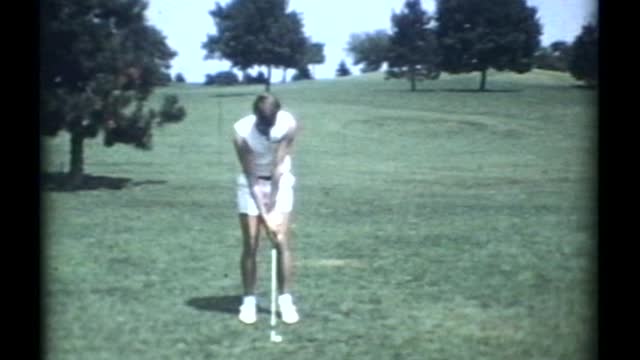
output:
<instances>
[{"instance_id":1,"label":"golfer in white top and shorts, head bowed, gripping a club","mask_svg":"<svg viewBox=\"0 0 640 360\"><path fill-rule=\"evenodd\" d=\"M259 95L253 114L234 124L234 146L242 167L237 177L237 203L242 230L240 269L244 296L238 318L246 324L257 320L256 253L260 229L274 239L278 254L278 306L282 321L298 322L291 296L292 255L289 219L293 208L295 177L291 173L291 147L297 123L271 94Z\"/></svg>"}]
</instances>

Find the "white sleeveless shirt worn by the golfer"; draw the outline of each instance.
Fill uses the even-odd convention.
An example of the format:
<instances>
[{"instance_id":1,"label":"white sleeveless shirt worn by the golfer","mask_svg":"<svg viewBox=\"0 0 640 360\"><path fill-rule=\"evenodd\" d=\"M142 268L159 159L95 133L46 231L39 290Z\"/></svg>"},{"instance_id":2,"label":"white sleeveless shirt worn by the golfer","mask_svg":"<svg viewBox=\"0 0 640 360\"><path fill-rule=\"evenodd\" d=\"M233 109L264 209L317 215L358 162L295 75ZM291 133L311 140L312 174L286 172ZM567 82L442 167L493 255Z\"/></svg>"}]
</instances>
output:
<instances>
[{"instance_id":1,"label":"white sleeveless shirt worn by the golfer","mask_svg":"<svg viewBox=\"0 0 640 360\"><path fill-rule=\"evenodd\" d=\"M256 176L271 176L274 166L275 150L278 143L282 141L289 128L296 124L296 120L289 112L280 110L276 116L276 121L271 128L269 138L260 134L254 126L255 115L248 115L236 121L233 128L236 135L245 139L255 156ZM291 172L291 157L285 156L282 163L282 172Z\"/></svg>"}]
</instances>

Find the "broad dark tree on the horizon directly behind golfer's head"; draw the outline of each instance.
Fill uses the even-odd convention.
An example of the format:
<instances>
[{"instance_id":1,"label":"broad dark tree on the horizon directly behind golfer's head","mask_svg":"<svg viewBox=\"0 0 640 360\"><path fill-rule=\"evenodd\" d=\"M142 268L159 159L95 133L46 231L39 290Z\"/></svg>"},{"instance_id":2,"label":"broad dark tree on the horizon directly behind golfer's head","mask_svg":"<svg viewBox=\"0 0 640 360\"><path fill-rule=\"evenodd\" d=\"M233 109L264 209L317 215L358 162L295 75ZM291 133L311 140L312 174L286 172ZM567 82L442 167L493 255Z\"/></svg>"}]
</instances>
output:
<instances>
[{"instance_id":1,"label":"broad dark tree on the horizon directly behind golfer's head","mask_svg":"<svg viewBox=\"0 0 640 360\"><path fill-rule=\"evenodd\" d=\"M298 13L287 12L286 0L232 0L216 3L209 14L217 29L207 35L205 58L224 58L245 71L267 67L266 91L271 89L273 67L296 68L307 44Z\"/></svg>"}]
</instances>

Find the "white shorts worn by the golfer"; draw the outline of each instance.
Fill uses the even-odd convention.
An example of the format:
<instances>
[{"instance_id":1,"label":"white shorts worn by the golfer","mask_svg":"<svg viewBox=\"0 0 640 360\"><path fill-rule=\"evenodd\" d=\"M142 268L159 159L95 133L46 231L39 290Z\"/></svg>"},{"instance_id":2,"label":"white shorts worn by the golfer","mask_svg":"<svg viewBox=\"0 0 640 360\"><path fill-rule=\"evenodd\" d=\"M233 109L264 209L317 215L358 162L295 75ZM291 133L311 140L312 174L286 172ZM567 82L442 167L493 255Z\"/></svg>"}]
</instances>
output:
<instances>
[{"instance_id":1,"label":"white shorts worn by the golfer","mask_svg":"<svg viewBox=\"0 0 640 360\"><path fill-rule=\"evenodd\" d=\"M288 214L291 212L293 209L293 186L295 182L296 178L291 173L284 173L282 177L280 177L280 185L274 208L275 211L282 214ZM253 201L253 197L251 197L249 184L247 183L247 178L244 174L238 175L236 185L238 212L250 216L258 216L260 211L258 211L258 207L256 206L255 201ZM258 196L264 199L266 204L271 193L271 180L258 180L257 186Z\"/></svg>"}]
</instances>

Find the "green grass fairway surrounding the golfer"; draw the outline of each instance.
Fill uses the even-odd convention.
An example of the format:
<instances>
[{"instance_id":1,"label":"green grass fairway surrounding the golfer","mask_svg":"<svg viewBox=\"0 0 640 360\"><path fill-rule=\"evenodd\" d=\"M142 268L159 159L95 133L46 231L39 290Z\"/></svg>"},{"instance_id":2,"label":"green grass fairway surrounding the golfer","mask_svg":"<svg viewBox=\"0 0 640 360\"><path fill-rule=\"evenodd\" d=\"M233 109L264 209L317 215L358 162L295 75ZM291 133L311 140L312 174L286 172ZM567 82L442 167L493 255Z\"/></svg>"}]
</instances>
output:
<instances>
[{"instance_id":1,"label":"green grass fairway surrounding the golfer","mask_svg":"<svg viewBox=\"0 0 640 360\"><path fill-rule=\"evenodd\" d=\"M86 143L121 190L43 193L48 359L589 359L596 94L566 74L275 85L296 145L297 325L236 318L231 124L262 87L182 85L154 150ZM43 169L68 137L43 140Z\"/></svg>"}]
</instances>

